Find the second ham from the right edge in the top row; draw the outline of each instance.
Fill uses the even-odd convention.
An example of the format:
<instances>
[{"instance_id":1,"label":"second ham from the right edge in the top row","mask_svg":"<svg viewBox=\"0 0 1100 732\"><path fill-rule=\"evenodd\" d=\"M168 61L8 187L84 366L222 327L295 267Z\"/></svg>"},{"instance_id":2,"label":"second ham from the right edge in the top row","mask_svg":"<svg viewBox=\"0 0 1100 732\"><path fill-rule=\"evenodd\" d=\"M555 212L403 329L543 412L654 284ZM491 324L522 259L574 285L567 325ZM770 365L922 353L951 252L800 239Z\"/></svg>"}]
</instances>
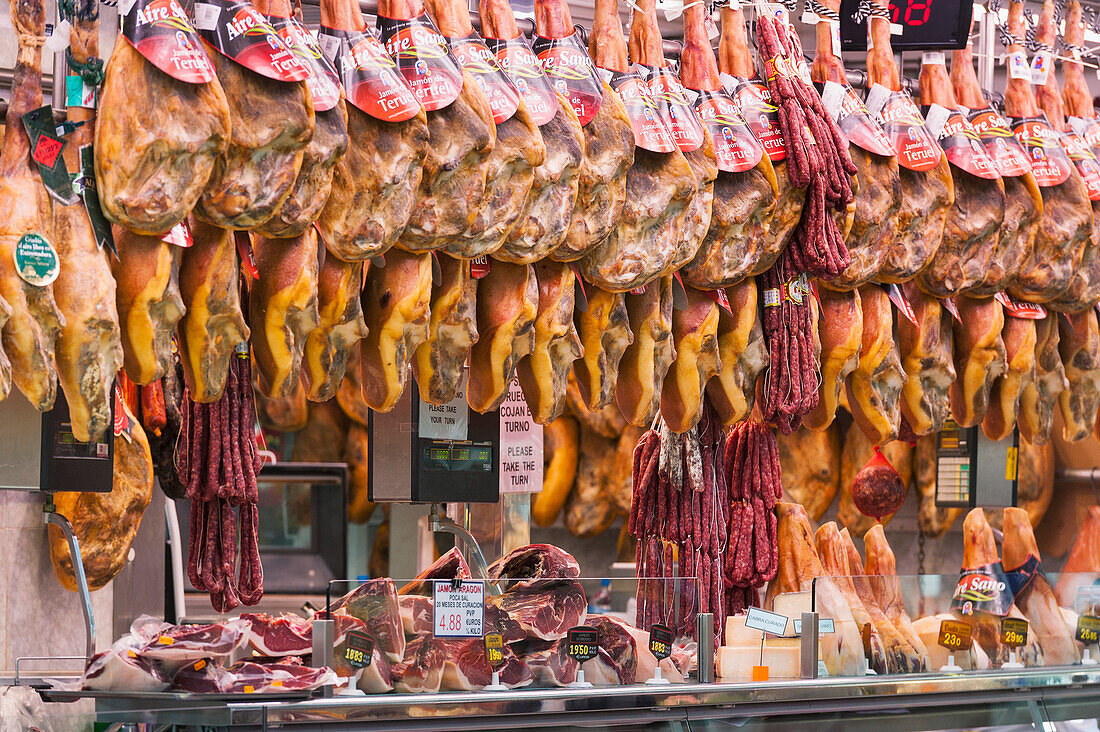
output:
<instances>
[{"instance_id":1,"label":"second ham from the right edge in the top row","mask_svg":"<svg viewBox=\"0 0 1100 732\"><path fill-rule=\"evenodd\" d=\"M1036 29L1036 41L1054 42L1054 4L1045 2ZM1009 54L1023 54L1026 30L1023 2L1009 6ZM1011 63L1011 62L1010 62ZM1024 61L1026 64L1026 58ZM1050 124L1062 120L1038 120L1041 110L1028 79L1009 75L1004 91L1004 111L1011 118L1013 131L1021 142L1034 148L1033 154L1046 164L1032 168L1043 194L1043 217L1035 234L1035 247L1021 265L1020 274L1011 287L1013 295L1032 302L1048 302L1064 293L1070 283L1074 269L1080 263L1085 243L1092 233L1092 208L1089 205L1085 182L1057 144L1057 133ZM1027 138L1024 138L1026 133ZM1045 142L1056 148L1058 156L1046 151Z\"/></svg>"}]
</instances>

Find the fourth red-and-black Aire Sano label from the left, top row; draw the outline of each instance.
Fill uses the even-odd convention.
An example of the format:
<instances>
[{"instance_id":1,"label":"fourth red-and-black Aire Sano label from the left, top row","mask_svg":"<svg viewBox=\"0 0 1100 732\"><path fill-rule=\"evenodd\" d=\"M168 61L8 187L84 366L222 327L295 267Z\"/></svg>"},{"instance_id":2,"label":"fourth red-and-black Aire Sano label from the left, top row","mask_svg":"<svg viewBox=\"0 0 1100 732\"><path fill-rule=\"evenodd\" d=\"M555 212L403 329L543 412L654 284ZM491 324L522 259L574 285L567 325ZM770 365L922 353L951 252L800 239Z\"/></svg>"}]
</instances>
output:
<instances>
[{"instance_id":1,"label":"fourth red-and-black Aire Sano label from the left, top row","mask_svg":"<svg viewBox=\"0 0 1100 732\"><path fill-rule=\"evenodd\" d=\"M320 28L317 42L337 69L348 103L385 122L404 122L420 113L420 102L397 64L370 29Z\"/></svg>"}]
</instances>

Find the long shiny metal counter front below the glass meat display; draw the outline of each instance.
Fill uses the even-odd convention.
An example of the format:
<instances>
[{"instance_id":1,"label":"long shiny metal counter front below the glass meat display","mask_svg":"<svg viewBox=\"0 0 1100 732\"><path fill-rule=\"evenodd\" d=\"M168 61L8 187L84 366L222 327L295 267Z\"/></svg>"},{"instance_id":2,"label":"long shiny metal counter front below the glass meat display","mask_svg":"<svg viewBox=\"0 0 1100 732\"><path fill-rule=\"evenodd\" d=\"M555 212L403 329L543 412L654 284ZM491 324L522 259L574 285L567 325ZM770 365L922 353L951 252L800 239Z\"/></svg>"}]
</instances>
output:
<instances>
[{"instance_id":1,"label":"long shiny metal counter front below the glass meat display","mask_svg":"<svg viewBox=\"0 0 1100 732\"><path fill-rule=\"evenodd\" d=\"M79 692L51 692L63 701ZM386 693L307 700L204 698L180 693L98 692L102 722L201 724L234 729L516 729L583 724L673 723L845 711L909 710L953 704L1042 702L1096 697L1100 667L1074 666L953 675L785 679L768 682L681 684L671 687L516 689L512 691ZM301 728L298 728L301 729Z\"/></svg>"}]
</instances>

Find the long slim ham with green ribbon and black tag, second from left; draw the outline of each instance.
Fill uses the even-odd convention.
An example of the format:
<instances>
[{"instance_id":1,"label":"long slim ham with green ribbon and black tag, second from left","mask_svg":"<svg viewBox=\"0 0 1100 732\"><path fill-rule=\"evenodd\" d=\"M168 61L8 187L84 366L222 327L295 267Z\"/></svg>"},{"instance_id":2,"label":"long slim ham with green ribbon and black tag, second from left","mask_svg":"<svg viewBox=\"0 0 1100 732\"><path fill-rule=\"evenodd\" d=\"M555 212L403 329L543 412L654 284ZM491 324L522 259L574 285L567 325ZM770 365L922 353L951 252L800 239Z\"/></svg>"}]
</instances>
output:
<instances>
[{"instance_id":1,"label":"long slim ham with green ribbon and black tag, second from left","mask_svg":"<svg viewBox=\"0 0 1100 732\"><path fill-rule=\"evenodd\" d=\"M99 21L95 4L77 8L69 34L73 61L86 64L99 55ZM91 144L94 110L69 107L77 128L66 148L69 170L80 168L79 149ZM122 368L122 340L110 253L99 248L82 200L54 205L57 256L64 263L54 282L54 297L65 325L57 335L57 378L68 403L73 436L98 440L111 424L111 386Z\"/></svg>"}]
</instances>

